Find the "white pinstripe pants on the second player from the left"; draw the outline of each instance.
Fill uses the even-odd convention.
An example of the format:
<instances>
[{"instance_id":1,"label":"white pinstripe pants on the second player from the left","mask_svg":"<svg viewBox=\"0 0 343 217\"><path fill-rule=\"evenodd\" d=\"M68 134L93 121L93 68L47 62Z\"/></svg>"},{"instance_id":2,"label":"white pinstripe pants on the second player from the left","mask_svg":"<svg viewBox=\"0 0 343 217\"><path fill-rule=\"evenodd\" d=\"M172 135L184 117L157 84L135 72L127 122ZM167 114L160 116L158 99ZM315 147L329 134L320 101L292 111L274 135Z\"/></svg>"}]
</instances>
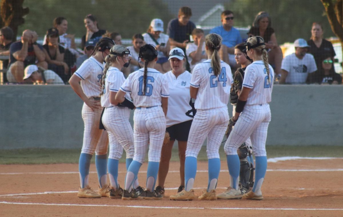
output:
<instances>
[{"instance_id":1,"label":"white pinstripe pants on the second player from the left","mask_svg":"<svg viewBox=\"0 0 343 217\"><path fill-rule=\"evenodd\" d=\"M123 148L126 152L126 158L133 158L133 130L129 118L129 108L118 106L105 108L102 121L109 138L108 158L119 160Z\"/></svg>"}]
</instances>

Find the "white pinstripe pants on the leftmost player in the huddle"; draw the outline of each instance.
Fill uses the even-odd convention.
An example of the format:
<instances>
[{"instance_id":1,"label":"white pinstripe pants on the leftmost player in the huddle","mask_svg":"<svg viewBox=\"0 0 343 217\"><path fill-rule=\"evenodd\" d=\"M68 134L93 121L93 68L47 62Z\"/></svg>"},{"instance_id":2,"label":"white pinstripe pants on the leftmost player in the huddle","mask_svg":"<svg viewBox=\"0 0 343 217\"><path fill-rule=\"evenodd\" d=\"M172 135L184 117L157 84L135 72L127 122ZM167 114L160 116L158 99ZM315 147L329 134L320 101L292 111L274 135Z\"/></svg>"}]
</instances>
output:
<instances>
[{"instance_id":1,"label":"white pinstripe pants on the leftmost player in the huddle","mask_svg":"<svg viewBox=\"0 0 343 217\"><path fill-rule=\"evenodd\" d=\"M108 135L99 129L100 116L103 108L93 111L85 103L82 106L82 119L84 123L83 145L81 153L97 155L107 154Z\"/></svg>"}]
</instances>

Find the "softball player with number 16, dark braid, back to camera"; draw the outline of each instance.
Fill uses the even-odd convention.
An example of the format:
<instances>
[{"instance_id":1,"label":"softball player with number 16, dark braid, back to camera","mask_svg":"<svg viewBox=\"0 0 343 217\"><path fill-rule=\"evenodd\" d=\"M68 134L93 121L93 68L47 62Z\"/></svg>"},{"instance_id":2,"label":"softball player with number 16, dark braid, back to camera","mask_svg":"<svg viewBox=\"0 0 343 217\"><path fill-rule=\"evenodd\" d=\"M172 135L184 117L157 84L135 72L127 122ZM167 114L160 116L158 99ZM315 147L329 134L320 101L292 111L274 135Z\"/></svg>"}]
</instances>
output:
<instances>
[{"instance_id":1,"label":"softball player with number 16, dark braid, back to camera","mask_svg":"<svg viewBox=\"0 0 343 217\"><path fill-rule=\"evenodd\" d=\"M133 116L134 157L126 174L122 200L138 198L138 195L131 191L131 188L144 161L148 142L150 145L146 191L140 197L147 200L159 200L162 199L162 195L156 193L154 188L166 131L168 81L162 73L154 69L157 51L153 45L142 46L139 57L144 62L144 69L131 73L120 87L115 98L122 103L125 100L125 95L131 93L136 107Z\"/></svg>"}]
</instances>

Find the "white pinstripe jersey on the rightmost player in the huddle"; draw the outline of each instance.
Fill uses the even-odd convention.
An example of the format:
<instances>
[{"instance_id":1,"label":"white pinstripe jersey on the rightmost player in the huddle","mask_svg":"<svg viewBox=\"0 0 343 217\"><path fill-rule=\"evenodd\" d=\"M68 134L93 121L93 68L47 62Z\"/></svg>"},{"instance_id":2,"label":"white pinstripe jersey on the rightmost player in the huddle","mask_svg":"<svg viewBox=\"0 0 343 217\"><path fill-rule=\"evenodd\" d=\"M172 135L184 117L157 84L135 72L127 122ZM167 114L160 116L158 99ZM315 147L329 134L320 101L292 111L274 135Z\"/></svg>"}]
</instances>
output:
<instances>
[{"instance_id":1,"label":"white pinstripe jersey on the rightmost player in the huddle","mask_svg":"<svg viewBox=\"0 0 343 217\"><path fill-rule=\"evenodd\" d=\"M263 105L272 101L274 70L269 65L271 83L268 82L267 70L262 60L250 64L244 74L243 86L252 89L248 95L247 105Z\"/></svg>"}]
</instances>

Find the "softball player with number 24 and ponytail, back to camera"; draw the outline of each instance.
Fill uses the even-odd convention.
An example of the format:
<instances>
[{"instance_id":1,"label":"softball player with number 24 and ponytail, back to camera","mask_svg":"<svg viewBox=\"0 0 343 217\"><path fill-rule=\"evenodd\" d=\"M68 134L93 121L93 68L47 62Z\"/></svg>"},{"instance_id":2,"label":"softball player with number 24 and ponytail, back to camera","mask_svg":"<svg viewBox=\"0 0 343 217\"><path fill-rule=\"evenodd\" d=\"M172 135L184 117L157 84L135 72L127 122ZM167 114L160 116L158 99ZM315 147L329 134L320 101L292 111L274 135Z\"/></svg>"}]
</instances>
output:
<instances>
[{"instance_id":1,"label":"softball player with number 24 and ponytail, back to camera","mask_svg":"<svg viewBox=\"0 0 343 217\"><path fill-rule=\"evenodd\" d=\"M205 38L205 51L209 58L197 64L192 73L190 95L195 98L197 113L194 116L186 150L185 189L171 200L193 200L193 184L197 173L197 156L207 137L207 157L209 159L208 187L199 200L216 200L215 188L220 171L219 147L229 121L227 104L229 101L232 74L230 66L220 60L218 51L222 38L213 33Z\"/></svg>"}]
</instances>

